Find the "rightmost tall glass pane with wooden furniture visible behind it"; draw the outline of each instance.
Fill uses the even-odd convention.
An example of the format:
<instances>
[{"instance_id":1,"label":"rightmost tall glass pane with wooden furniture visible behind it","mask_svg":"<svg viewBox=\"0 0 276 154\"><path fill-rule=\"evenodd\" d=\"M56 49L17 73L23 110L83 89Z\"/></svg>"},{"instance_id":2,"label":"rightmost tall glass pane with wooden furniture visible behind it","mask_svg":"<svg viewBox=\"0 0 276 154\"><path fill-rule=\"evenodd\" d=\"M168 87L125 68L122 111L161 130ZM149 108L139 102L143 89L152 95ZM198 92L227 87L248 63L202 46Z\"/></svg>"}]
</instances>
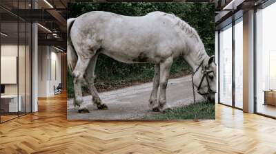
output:
<instances>
[{"instance_id":1,"label":"rightmost tall glass pane with wooden furniture visible behind it","mask_svg":"<svg viewBox=\"0 0 276 154\"><path fill-rule=\"evenodd\" d=\"M276 117L276 3L256 12L256 111Z\"/></svg>"}]
</instances>

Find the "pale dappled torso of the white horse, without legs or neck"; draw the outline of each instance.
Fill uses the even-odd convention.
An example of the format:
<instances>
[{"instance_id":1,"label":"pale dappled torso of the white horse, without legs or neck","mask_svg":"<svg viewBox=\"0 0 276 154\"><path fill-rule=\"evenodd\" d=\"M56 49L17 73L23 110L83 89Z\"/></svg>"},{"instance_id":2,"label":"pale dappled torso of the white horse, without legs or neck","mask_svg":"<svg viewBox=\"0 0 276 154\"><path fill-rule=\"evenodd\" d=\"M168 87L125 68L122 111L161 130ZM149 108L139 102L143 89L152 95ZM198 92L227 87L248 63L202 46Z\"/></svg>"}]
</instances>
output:
<instances>
[{"instance_id":1,"label":"pale dappled torso of the white horse, without legs or neck","mask_svg":"<svg viewBox=\"0 0 276 154\"><path fill-rule=\"evenodd\" d=\"M183 48L175 23L164 12L144 17L88 12L74 25L82 36L79 41L97 41L103 54L126 63L160 61L178 56Z\"/></svg>"}]
</instances>

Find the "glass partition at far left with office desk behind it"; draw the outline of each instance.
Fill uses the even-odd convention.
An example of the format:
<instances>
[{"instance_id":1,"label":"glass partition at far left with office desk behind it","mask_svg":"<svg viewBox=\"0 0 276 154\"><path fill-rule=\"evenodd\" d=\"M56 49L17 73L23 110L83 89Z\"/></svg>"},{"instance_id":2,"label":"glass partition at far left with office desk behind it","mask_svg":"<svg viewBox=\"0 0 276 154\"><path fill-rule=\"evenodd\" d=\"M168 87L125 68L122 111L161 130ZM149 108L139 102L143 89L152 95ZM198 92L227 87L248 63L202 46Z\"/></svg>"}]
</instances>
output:
<instances>
[{"instance_id":1,"label":"glass partition at far left with office desk behind it","mask_svg":"<svg viewBox=\"0 0 276 154\"><path fill-rule=\"evenodd\" d=\"M6 3L12 11L30 8L30 1ZM0 8L0 122L31 111L31 31L28 21Z\"/></svg>"}]
</instances>

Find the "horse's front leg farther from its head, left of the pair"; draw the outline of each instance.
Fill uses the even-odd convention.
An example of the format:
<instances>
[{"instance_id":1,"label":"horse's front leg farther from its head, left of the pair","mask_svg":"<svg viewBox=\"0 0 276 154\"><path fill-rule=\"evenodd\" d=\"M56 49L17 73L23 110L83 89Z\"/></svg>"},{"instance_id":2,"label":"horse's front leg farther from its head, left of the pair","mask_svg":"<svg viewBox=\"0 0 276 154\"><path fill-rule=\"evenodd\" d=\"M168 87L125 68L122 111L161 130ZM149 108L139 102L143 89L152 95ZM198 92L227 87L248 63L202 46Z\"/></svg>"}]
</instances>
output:
<instances>
[{"instance_id":1,"label":"horse's front leg farther from its head, left of the pair","mask_svg":"<svg viewBox=\"0 0 276 154\"><path fill-rule=\"evenodd\" d=\"M149 107L152 111L159 111L159 104L157 102L157 93L160 81L160 64L155 64L155 75L152 80L152 91L150 93Z\"/></svg>"}]
</instances>

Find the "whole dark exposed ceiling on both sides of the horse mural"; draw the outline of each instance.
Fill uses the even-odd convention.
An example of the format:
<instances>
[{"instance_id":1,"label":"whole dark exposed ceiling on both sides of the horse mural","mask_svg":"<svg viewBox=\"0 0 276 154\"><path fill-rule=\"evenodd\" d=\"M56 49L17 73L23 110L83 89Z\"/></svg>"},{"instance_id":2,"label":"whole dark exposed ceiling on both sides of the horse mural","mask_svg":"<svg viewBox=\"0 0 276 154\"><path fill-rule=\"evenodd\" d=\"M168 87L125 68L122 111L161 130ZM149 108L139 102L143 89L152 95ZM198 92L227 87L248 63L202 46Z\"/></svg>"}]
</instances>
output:
<instances>
[{"instance_id":1,"label":"whole dark exposed ceiling on both sides of the horse mural","mask_svg":"<svg viewBox=\"0 0 276 154\"><path fill-rule=\"evenodd\" d=\"M119 0L98 0L99 2L115 2ZM133 0L135 1L135 0ZM152 0L147 0L152 1ZM160 1L160 0L157 0ZM176 0L180 1L180 0ZM185 0L184 0L185 1ZM236 0L186 0L193 2L214 2L216 8L216 23L219 24L229 14L234 11L221 11L230 1ZM243 3L255 3L258 0L239 0ZM265 1L265 0L262 0ZM21 19L21 21L37 22L39 30L39 43L41 45L59 45L66 49L66 18L67 3L72 2L92 2L92 0L1 0L0 16L2 22L11 22ZM239 3L241 4L241 3ZM35 6L35 7L34 7ZM235 6L237 8L237 6ZM36 9L33 9L36 8ZM3 25L6 26L6 25ZM19 34L20 35L20 34ZM12 35L11 35L12 36ZM55 44L57 43L57 44Z\"/></svg>"}]
</instances>

